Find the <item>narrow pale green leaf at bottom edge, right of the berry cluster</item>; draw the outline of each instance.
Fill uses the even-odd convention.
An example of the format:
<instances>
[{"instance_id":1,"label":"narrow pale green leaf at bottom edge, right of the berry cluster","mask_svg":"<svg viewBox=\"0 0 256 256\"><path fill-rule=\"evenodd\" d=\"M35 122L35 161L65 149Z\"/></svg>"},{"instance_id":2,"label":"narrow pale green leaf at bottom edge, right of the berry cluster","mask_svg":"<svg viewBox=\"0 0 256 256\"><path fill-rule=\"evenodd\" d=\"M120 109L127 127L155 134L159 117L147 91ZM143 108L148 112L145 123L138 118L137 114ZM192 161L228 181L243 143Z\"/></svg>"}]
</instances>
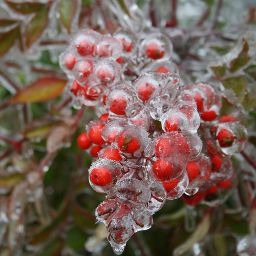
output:
<instances>
[{"instance_id":1,"label":"narrow pale green leaf at bottom edge, right of the berry cluster","mask_svg":"<svg viewBox=\"0 0 256 256\"><path fill-rule=\"evenodd\" d=\"M197 229L191 234L188 240L174 250L174 256L180 256L189 250L195 243L201 241L207 234L210 227L210 214L204 217Z\"/></svg>"}]
</instances>

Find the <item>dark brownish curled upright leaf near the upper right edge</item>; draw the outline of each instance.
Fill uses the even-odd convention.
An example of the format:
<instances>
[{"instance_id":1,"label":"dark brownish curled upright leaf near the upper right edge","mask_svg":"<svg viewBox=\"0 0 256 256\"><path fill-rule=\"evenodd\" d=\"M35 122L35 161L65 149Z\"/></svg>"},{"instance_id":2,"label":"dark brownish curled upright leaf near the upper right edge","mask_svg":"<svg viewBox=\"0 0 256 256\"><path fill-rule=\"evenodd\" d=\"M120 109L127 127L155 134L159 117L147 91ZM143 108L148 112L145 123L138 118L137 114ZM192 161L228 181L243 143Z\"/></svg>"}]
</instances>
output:
<instances>
[{"instance_id":1,"label":"dark brownish curled upright leaf near the upper right edge","mask_svg":"<svg viewBox=\"0 0 256 256\"><path fill-rule=\"evenodd\" d=\"M242 38L243 49L239 53L238 57L230 61L230 72L236 72L240 68L244 67L251 57L248 55L249 44L245 38Z\"/></svg>"}]
</instances>

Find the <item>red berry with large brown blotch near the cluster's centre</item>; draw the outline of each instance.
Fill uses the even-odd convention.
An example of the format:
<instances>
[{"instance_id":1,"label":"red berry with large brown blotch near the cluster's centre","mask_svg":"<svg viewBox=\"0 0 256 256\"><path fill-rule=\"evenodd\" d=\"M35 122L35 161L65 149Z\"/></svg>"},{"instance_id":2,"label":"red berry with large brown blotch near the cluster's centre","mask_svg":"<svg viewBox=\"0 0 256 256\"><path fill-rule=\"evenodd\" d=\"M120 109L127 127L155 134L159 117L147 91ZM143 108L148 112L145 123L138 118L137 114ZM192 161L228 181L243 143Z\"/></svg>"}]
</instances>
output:
<instances>
[{"instance_id":1,"label":"red berry with large brown blotch near the cluster's centre","mask_svg":"<svg viewBox=\"0 0 256 256\"><path fill-rule=\"evenodd\" d=\"M134 153L139 147L140 143L133 133L124 132L118 136L117 144L119 149L124 153Z\"/></svg>"}]
</instances>

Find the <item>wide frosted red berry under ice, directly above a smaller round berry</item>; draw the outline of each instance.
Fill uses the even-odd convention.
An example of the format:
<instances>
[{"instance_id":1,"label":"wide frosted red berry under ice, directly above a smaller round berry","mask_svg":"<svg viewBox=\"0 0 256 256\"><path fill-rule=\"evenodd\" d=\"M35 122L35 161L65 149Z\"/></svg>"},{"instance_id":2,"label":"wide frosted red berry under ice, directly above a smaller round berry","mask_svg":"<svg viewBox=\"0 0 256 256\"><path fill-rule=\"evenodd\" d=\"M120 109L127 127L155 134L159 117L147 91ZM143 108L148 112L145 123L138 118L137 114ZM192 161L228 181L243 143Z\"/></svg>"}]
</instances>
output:
<instances>
[{"instance_id":1,"label":"wide frosted red berry under ice, directly above a smaller round berry","mask_svg":"<svg viewBox=\"0 0 256 256\"><path fill-rule=\"evenodd\" d=\"M157 158L168 158L174 154L189 155L189 146L185 138L176 134L173 138L161 138L155 146L155 154Z\"/></svg>"}]
</instances>

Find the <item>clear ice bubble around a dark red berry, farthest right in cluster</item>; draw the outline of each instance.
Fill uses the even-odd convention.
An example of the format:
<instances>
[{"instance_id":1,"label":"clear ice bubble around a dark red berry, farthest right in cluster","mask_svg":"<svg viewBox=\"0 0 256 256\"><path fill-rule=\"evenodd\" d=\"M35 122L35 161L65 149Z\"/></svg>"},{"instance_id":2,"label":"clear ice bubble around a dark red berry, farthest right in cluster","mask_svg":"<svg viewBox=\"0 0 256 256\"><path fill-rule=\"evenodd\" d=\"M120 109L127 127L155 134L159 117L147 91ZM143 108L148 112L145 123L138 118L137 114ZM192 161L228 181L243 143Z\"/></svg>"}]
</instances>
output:
<instances>
[{"instance_id":1,"label":"clear ice bubble around a dark red berry, farthest right in cluster","mask_svg":"<svg viewBox=\"0 0 256 256\"><path fill-rule=\"evenodd\" d=\"M223 131L229 131L228 136L221 136ZM239 122L220 123L217 129L219 142L225 144L221 146L221 151L229 156L240 153L247 142L247 131L244 125Z\"/></svg>"}]
</instances>

